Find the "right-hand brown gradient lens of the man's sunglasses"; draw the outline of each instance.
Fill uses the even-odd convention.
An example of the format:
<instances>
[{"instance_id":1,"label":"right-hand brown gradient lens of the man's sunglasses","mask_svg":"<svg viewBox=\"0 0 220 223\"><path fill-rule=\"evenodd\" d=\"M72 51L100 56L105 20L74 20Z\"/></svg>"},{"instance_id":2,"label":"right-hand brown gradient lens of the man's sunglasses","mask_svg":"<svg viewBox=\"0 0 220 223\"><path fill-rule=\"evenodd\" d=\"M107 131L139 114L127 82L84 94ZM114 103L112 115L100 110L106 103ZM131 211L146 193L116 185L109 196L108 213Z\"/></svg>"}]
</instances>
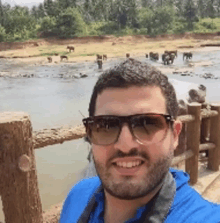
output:
<instances>
[{"instance_id":1,"label":"right-hand brown gradient lens of the man's sunglasses","mask_svg":"<svg viewBox=\"0 0 220 223\"><path fill-rule=\"evenodd\" d=\"M156 114L135 116L131 123L134 136L147 144L161 141L168 129L165 117Z\"/></svg>"}]
</instances>

